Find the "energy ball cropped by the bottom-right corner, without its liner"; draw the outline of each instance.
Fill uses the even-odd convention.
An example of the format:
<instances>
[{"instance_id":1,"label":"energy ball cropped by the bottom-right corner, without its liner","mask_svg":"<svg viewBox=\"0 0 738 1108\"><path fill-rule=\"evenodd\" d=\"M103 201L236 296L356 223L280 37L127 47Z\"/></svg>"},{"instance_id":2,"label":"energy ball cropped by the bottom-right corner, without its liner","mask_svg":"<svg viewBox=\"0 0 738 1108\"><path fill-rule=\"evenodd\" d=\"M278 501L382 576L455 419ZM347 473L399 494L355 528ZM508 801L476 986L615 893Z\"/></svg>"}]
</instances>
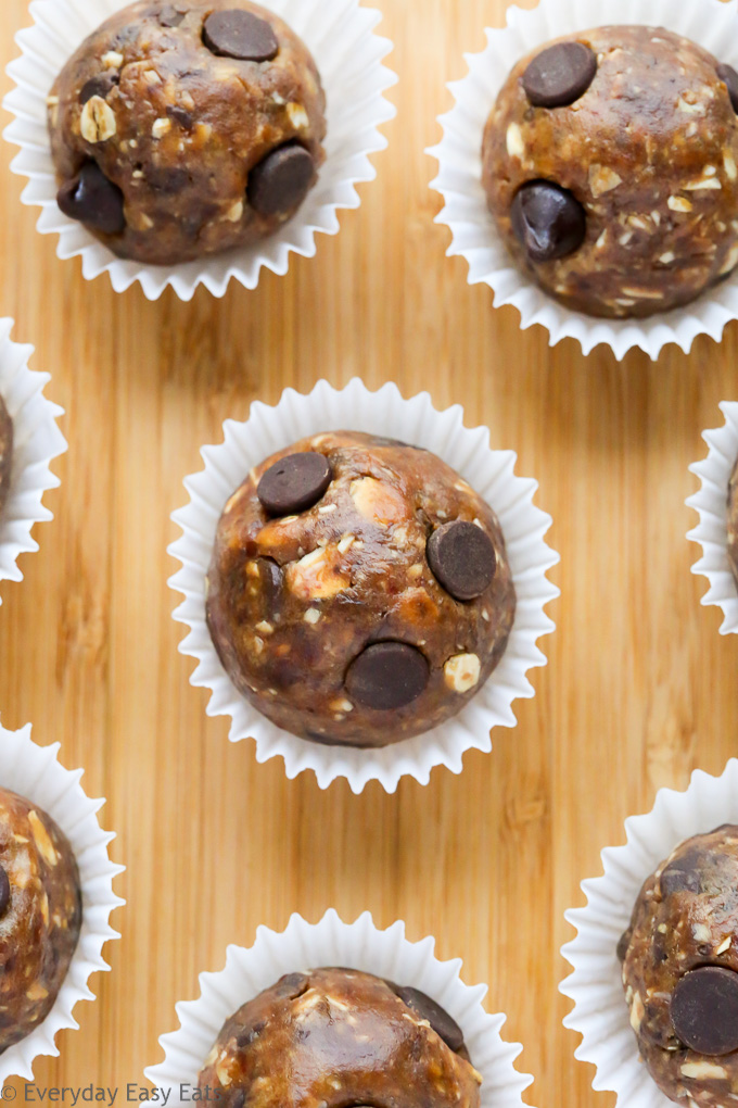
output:
<instances>
[{"instance_id":1,"label":"energy ball cropped by the bottom-right corner, without its liner","mask_svg":"<svg viewBox=\"0 0 738 1108\"><path fill-rule=\"evenodd\" d=\"M738 1089L738 827L696 835L644 884L619 951L641 1056L678 1104Z\"/></svg>"}]
</instances>

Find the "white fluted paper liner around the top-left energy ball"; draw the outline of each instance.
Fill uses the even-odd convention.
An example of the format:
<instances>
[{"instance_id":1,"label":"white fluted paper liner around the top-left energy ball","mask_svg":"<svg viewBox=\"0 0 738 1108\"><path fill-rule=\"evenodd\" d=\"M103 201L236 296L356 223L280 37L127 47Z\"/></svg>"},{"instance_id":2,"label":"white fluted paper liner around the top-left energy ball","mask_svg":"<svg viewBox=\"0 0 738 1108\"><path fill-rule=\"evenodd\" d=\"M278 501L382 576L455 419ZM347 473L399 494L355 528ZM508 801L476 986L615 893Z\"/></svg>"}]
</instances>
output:
<instances>
[{"instance_id":1,"label":"white fluted paper liner around the top-left energy ball","mask_svg":"<svg viewBox=\"0 0 738 1108\"><path fill-rule=\"evenodd\" d=\"M383 93L397 79L382 64L393 44L374 33L381 13L360 7L360 0L260 0L293 28L318 63L328 96L325 164L300 212L271 238L204 260L163 267L116 258L82 224L62 215L46 131L46 95L64 63L92 31L129 2L33 0L34 24L15 35L21 57L7 71L15 88L3 102L15 120L4 135L21 147L11 168L29 178L23 203L43 209L38 229L59 235L60 258L82 255L85 280L107 273L116 293L139 281L149 300L158 299L169 285L181 300L190 300L200 284L221 297L231 278L256 288L262 268L283 276L291 253L313 257L316 234L337 234L337 209L360 206L354 186L374 179L370 154L387 145L378 127L393 119L395 109Z\"/></svg>"}]
</instances>

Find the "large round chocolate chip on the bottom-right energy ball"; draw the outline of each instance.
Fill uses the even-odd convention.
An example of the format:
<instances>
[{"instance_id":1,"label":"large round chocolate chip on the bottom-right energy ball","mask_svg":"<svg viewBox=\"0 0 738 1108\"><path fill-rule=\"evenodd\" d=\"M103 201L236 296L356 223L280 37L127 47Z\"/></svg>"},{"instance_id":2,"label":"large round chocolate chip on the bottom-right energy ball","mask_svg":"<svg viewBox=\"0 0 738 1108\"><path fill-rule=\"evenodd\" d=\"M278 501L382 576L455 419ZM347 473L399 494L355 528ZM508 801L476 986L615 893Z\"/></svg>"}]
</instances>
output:
<instances>
[{"instance_id":1,"label":"large round chocolate chip on the bottom-right energy ball","mask_svg":"<svg viewBox=\"0 0 738 1108\"><path fill-rule=\"evenodd\" d=\"M723 966L685 974L671 1014L677 1038L692 1050L709 1057L738 1050L738 974Z\"/></svg>"}]
</instances>

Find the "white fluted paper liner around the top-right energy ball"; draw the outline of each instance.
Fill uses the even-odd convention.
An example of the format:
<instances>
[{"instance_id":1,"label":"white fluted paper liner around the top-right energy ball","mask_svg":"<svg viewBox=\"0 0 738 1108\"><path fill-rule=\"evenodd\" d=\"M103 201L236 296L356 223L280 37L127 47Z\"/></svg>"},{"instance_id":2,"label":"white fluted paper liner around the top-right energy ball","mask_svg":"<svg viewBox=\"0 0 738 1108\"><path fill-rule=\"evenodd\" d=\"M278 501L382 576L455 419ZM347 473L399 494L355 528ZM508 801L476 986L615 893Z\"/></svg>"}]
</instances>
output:
<instances>
[{"instance_id":1,"label":"white fluted paper liner around the top-right energy ball","mask_svg":"<svg viewBox=\"0 0 738 1108\"><path fill-rule=\"evenodd\" d=\"M720 61L738 65L737 17L738 0L541 0L532 11L508 8L507 28L488 28L487 49L465 55L469 73L448 85L456 105L439 117L444 137L427 151L439 163L432 187L445 202L436 222L450 228L447 254L466 258L469 284L489 285L497 308L513 305L522 330L540 324L549 331L551 346L571 337L585 355L605 343L619 360L633 347L655 360L667 342L688 353L697 335L719 341L726 324L738 318L738 274L686 308L646 320L594 319L563 307L514 265L481 184L485 124L510 70L536 47L593 27L641 23L684 34Z\"/></svg>"}]
</instances>

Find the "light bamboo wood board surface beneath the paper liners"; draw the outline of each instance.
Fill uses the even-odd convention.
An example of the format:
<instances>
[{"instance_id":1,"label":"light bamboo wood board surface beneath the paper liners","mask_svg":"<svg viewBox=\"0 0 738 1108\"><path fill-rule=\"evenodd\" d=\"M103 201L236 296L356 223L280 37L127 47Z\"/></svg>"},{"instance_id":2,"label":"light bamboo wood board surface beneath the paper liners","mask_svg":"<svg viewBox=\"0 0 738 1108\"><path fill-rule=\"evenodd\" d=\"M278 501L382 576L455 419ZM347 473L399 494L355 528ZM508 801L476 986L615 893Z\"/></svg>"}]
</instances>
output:
<instances>
[{"instance_id":1,"label":"light bamboo wood board surface beneath the paper liners","mask_svg":"<svg viewBox=\"0 0 738 1108\"><path fill-rule=\"evenodd\" d=\"M446 82L466 72L462 52L484 47L506 3L380 6L401 83L378 179L316 258L293 259L257 291L148 304L105 277L83 281L79 259L59 261L55 239L37 234L12 151L0 148L0 315L35 343L32 368L53 375L46 392L66 409L70 442L54 465L62 488L46 496L54 522L37 527L41 552L21 560L22 584L0 589L2 721L32 720L37 741L60 739L65 765L85 767L128 866L113 973L93 979L100 998L77 1007L61 1060L37 1065L41 1085L142 1080L177 1024L175 1002L197 995L198 973L220 968L229 942L334 905L349 919L371 909L383 926L403 917L410 938L434 933L441 957L462 957L467 982L489 983L489 1008L508 1014L505 1036L524 1044L519 1066L536 1075L531 1105L605 1108L613 1098L592 1091L561 1026L563 912L601 872L601 848L623 841L625 817L736 752L738 638L721 638L718 611L699 606L684 500L701 430L738 393L738 326L690 357L671 348L657 365L640 352L617 365L602 349L584 359L573 341L549 350L540 328L521 334L513 309L468 288L466 264L444 257L436 163L423 152L450 106ZM27 0L3 0L3 68L28 22ZM459 401L468 423L487 423L540 481L561 554L549 665L517 729L495 736L491 756L469 753L460 778L436 770L429 787L404 781L394 797L374 783L356 798L345 783L289 782L280 762L256 763L249 741L230 746L226 720L208 719L207 694L188 685L166 585L169 514L222 420L288 384L354 373L406 394L429 387L437 406Z\"/></svg>"}]
</instances>

